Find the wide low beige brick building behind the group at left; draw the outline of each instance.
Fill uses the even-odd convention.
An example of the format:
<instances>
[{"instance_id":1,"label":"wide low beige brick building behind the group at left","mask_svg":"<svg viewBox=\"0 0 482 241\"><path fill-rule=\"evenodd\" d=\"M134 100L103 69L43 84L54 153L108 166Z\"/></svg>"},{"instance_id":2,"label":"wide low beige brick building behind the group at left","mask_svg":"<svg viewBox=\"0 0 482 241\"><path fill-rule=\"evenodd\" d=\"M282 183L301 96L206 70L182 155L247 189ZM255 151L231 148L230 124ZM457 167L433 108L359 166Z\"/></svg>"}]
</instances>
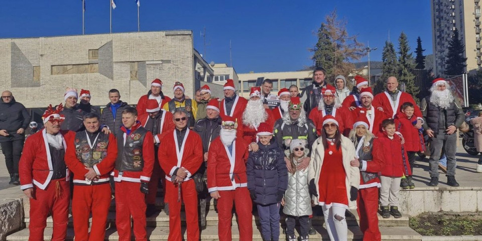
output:
<instances>
[{"instance_id":1,"label":"wide low beige brick building behind the group at left","mask_svg":"<svg viewBox=\"0 0 482 241\"><path fill-rule=\"evenodd\" d=\"M0 86L26 107L63 102L65 87L89 89L94 105L108 103L116 88L136 104L155 78L168 96L175 81L193 96L211 75L187 30L0 39Z\"/></svg>"}]
</instances>

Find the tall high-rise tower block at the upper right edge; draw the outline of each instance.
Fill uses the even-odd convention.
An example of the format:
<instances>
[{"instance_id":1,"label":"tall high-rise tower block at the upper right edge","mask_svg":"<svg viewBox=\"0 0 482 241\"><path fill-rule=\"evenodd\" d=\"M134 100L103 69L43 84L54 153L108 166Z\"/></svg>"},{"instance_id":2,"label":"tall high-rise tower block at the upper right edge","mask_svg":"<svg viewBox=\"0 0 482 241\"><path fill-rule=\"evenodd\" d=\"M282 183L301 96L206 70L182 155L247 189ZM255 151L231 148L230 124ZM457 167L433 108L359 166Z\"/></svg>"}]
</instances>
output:
<instances>
[{"instance_id":1,"label":"tall high-rise tower block at the upper right edge","mask_svg":"<svg viewBox=\"0 0 482 241\"><path fill-rule=\"evenodd\" d=\"M452 31L459 31L465 44L464 56L467 58L466 71L480 68L482 64L480 42L480 0L432 0L432 46L434 54L434 73L444 75L445 60Z\"/></svg>"}]
</instances>

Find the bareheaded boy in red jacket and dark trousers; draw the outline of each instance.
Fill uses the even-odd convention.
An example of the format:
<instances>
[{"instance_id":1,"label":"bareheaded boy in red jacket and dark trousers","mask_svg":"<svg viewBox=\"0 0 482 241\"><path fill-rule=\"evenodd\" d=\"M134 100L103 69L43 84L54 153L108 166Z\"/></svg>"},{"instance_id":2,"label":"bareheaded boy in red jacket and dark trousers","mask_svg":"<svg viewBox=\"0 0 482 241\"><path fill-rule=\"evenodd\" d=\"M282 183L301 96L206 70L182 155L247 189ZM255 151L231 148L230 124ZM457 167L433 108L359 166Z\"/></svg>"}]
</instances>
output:
<instances>
[{"instance_id":1,"label":"bareheaded boy in red jacket and dark trousers","mask_svg":"<svg viewBox=\"0 0 482 241\"><path fill-rule=\"evenodd\" d=\"M402 112L399 112L395 115L395 129L405 138L405 143L403 146L407 152L408 163L410 163L410 172L413 173L415 154L417 152L425 152L423 128L415 128L414 123L417 124L417 117L413 115L414 105L412 103L405 102L402 104L400 109ZM407 176L407 178L402 178L400 186L403 189L415 188L415 185L412 182L412 175Z\"/></svg>"}]
</instances>

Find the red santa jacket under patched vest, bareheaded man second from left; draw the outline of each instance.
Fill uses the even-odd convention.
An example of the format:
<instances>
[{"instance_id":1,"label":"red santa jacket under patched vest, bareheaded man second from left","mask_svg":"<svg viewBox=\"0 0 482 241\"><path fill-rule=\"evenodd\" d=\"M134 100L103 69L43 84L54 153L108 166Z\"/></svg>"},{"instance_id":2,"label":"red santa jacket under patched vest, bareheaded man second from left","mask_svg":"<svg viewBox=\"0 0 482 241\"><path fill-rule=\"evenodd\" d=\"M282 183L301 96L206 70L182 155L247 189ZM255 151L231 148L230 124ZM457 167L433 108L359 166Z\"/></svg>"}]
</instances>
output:
<instances>
[{"instance_id":1,"label":"red santa jacket under patched vest, bareheaded man second from left","mask_svg":"<svg viewBox=\"0 0 482 241\"><path fill-rule=\"evenodd\" d=\"M82 132L85 133L85 132ZM95 145L95 143L94 143ZM97 147L98 148L98 147ZM117 158L117 142L112 133L109 134L109 144L107 145L107 156L102 159L100 163L95 164L92 168L100 177L99 180L93 182L109 182L109 175L114 168L115 159ZM74 140L69 140L67 143L67 151L65 152L65 164L74 173L74 183L81 183L90 185L91 181L85 180L85 174L88 172L81 160L75 154Z\"/></svg>"}]
</instances>

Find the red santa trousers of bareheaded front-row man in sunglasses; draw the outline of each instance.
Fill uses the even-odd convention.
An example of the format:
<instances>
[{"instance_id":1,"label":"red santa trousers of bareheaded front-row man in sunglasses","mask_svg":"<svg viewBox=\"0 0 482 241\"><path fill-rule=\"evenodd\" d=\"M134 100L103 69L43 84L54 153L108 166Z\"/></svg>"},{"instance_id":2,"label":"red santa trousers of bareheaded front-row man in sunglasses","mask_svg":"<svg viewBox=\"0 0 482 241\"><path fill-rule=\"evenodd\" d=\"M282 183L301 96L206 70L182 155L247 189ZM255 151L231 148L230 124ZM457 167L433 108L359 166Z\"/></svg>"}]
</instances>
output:
<instances>
[{"instance_id":1,"label":"red santa trousers of bareheaded front-row man in sunglasses","mask_svg":"<svg viewBox=\"0 0 482 241\"><path fill-rule=\"evenodd\" d=\"M179 186L166 180L166 200L169 203L169 237L168 241L181 241L181 201L186 209L187 240L199 240L197 215L197 191L194 180L181 183L181 200Z\"/></svg>"}]
</instances>

